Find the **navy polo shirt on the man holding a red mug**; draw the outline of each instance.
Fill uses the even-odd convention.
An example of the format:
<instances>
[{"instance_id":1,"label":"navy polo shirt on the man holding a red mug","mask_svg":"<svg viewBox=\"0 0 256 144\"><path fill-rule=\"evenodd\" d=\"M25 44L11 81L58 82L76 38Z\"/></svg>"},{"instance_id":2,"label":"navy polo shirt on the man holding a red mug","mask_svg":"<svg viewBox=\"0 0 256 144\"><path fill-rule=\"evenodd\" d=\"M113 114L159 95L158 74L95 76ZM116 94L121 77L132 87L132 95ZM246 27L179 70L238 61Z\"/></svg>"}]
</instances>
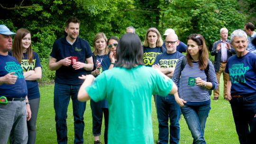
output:
<instances>
[{"instance_id":1,"label":"navy polo shirt on the man holding a red mug","mask_svg":"<svg viewBox=\"0 0 256 144\"><path fill-rule=\"evenodd\" d=\"M53 44L53 49L50 54L51 57L57 59L56 62L69 57L77 56L77 61L81 63L86 62L86 58L92 56L91 46L86 40L83 40L80 37L76 38L76 41L73 45L70 45L66 37L56 40ZM87 71L83 68L75 70L72 65L70 66L61 66L55 73L55 82L70 84L70 85L80 85L83 80L78 79L78 76L86 75Z\"/></svg>"}]
</instances>

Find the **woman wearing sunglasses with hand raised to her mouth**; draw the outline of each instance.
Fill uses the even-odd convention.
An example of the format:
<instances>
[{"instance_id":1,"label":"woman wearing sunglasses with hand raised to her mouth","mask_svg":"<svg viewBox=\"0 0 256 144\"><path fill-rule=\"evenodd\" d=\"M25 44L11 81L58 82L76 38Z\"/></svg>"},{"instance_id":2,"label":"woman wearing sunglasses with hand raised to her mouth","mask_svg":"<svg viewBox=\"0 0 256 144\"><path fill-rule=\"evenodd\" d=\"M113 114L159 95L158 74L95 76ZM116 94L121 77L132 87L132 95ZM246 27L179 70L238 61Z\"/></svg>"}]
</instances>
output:
<instances>
[{"instance_id":1,"label":"woman wearing sunglasses with hand raised to her mouth","mask_svg":"<svg viewBox=\"0 0 256 144\"><path fill-rule=\"evenodd\" d=\"M110 55L108 59L105 59L102 62L103 71L112 69L117 62L117 45L118 45L119 39L116 36L111 36L108 41L108 48L110 50Z\"/></svg>"}]
</instances>

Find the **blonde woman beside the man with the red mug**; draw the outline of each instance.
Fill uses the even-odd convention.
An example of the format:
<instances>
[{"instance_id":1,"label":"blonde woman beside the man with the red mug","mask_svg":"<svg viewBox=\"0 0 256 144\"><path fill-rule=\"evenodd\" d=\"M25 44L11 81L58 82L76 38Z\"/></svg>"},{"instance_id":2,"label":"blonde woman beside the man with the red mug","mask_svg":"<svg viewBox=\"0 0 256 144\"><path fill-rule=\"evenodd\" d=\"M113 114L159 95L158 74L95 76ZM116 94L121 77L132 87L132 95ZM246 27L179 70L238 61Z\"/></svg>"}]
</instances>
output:
<instances>
[{"instance_id":1,"label":"blonde woman beside the man with the red mug","mask_svg":"<svg viewBox=\"0 0 256 144\"><path fill-rule=\"evenodd\" d=\"M109 49L107 47L107 37L104 33L98 33L93 40L93 70L91 74L95 77L101 74L106 68L102 65L105 59L109 58ZM108 68L109 66L107 66ZM101 144L101 125L104 114L105 131L104 142L108 143L108 123L109 123L109 108L106 99L95 102L91 99L91 115L92 115L92 134L94 136L94 144Z\"/></svg>"}]
</instances>

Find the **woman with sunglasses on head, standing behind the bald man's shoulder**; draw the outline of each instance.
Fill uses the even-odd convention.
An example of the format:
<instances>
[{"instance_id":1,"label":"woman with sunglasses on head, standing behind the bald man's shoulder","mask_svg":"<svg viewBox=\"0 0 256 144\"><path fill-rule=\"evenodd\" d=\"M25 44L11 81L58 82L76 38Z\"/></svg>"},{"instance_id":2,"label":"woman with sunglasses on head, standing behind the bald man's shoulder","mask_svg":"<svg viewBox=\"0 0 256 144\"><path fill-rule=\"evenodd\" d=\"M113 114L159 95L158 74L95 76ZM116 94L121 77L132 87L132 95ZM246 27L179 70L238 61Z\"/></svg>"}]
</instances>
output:
<instances>
[{"instance_id":1,"label":"woman with sunglasses on head, standing behind the bald man's shoulder","mask_svg":"<svg viewBox=\"0 0 256 144\"><path fill-rule=\"evenodd\" d=\"M155 27L149 28L143 42L143 62L146 66L153 65L157 54L166 52L166 49L162 45L163 40L159 31Z\"/></svg>"}]
</instances>

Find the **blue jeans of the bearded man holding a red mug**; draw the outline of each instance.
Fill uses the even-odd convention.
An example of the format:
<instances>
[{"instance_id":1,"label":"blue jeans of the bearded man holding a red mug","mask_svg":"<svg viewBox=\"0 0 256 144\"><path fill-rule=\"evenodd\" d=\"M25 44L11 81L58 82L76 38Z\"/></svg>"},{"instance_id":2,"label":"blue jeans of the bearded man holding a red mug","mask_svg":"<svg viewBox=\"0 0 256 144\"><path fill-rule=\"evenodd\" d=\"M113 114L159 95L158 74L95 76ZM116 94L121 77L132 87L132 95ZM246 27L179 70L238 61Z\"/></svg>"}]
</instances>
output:
<instances>
[{"instance_id":1,"label":"blue jeans of the bearded man holding a red mug","mask_svg":"<svg viewBox=\"0 0 256 144\"><path fill-rule=\"evenodd\" d=\"M54 109L58 144L67 144L67 108L70 97L73 102L74 117L74 144L83 144L83 113L86 102L77 100L80 85L68 85L55 83L54 86Z\"/></svg>"}]
</instances>

